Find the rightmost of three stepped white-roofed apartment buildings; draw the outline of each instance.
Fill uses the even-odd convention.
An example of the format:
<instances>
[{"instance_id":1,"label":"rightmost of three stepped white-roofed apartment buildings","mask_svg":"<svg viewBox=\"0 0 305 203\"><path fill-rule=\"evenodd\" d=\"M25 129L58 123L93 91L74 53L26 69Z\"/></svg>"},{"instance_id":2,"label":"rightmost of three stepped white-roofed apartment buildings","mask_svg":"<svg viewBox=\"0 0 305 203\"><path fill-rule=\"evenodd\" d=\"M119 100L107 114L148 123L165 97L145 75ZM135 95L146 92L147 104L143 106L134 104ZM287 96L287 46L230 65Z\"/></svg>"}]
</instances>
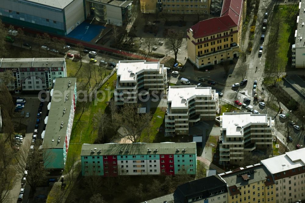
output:
<instances>
[{"instance_id":1,"label":"rightmost of three stepped white-roofed apartment buildings","mask_svg":"<svg viewBox=\"0 0 305 203\"><path fill-rule=\"evenodd\" d=\"M274 120L267 114L251 112L223 113L220 116L220 161L238 163L244 159L244 151L272 148Z\"/></svg>"}]
</instances>

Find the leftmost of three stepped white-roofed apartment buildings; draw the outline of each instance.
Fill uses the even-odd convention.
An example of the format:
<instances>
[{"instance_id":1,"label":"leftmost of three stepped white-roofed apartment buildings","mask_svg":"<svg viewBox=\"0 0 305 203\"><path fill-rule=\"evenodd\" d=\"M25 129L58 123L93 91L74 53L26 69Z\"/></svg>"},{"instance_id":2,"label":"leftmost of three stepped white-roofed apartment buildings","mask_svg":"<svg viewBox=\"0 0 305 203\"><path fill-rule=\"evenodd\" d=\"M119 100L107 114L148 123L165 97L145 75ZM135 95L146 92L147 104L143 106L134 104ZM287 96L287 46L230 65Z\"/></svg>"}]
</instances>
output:
<instances>
[{"instance_id":1,"label":"leftmost of three stepped white-roofed apartment buildings","mask_svg":"<svg viewBox=\"0 0 305 203\"><path fill-rule=\"evenodd\" d=\"M160 62L119 61L114 99L117 105L137 103L139 97L161 94L167 81L166 68Z\"/></svg>"}]
</instances>

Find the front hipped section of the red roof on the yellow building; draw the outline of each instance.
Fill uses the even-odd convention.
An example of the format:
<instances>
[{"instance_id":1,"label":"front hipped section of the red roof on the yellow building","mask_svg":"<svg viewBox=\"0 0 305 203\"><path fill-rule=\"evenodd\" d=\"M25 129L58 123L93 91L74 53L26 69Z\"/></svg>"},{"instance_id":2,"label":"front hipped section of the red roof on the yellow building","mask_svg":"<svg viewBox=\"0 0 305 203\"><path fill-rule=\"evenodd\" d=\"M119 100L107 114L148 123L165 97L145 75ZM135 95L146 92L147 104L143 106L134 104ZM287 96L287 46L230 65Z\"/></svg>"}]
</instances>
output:
<instances>
[{"instance_id":1,"label":"front hipped section of the red roof on the yellow building","mask_svg":"<svg viewBox=\"0 0 305 203\"><path fill-rule=\"evenodd\" d=\"M228 30L228 27L219 18L210 18L196 23L191 29L193 30L193 37L199 38L223 32Z\"/></svg>"}]
</instances>

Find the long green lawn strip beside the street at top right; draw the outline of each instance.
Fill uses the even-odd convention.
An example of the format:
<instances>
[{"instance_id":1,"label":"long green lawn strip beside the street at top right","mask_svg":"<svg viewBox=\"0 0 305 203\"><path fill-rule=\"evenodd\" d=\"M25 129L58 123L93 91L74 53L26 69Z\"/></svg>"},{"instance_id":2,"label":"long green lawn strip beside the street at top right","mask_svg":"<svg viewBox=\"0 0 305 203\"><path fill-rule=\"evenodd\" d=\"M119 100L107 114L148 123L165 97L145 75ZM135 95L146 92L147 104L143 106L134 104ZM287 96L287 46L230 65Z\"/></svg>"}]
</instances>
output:
<instances>
[{"instance_id":1,"label":"long green lawn strip beside the street at top right","mask_svg":"<svg viewBox=\"0 0 305 203\"><path fill-rule=\"evenodd\" d=\"M296 5L274 6L273 19L282 19L278 47L276 49L278 50L278 57L282 59L284 66L286 66L286 64L290 66L291 63L289 58L291 58L292 53L291 45L295 43L294 33L296 30L296 16L298 16L298 6Z\"/></svg>"}]
</instances>

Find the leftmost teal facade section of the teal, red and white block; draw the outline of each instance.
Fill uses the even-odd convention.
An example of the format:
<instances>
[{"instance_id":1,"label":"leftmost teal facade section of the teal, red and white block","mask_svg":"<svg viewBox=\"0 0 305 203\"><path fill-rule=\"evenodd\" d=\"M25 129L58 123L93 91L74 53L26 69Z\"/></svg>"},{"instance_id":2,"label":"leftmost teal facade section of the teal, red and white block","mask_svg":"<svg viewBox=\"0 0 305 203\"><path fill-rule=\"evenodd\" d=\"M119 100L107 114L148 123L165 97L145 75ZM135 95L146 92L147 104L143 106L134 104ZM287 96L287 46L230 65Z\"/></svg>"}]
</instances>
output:
<instances>
[{"instance_id":1,"label":"leftmost teal facade section of the teal, red and white block","mask_svg":"<svg viewBox=\"0 0 305 203\"><path fill-rule=\"evenodd\" d=\"M103 176L103 164L103 156L81 156L81 174L83 176ZM88 173L86 173L86 171Z\"/></svg>"}]
</instances>

